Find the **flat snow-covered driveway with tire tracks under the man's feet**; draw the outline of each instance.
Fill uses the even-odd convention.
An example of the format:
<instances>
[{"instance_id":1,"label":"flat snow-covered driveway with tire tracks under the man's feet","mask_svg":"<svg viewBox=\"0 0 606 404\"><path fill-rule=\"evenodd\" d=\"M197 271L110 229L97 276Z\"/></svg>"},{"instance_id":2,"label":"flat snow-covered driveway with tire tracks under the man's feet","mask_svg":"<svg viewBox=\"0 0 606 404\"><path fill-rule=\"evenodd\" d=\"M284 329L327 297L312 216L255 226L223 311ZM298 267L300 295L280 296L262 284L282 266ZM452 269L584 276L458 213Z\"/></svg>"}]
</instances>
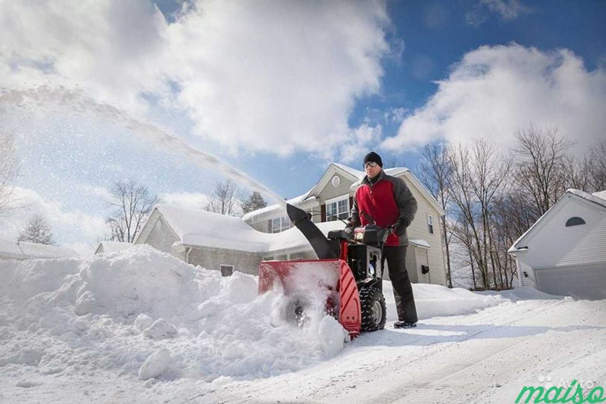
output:
<instances>
[{"instance_id":1,"label":"flat snow-covered driveway with tire tracks under the man's feet","mask_svg":"<svg viewBox=\"0 0 606 404\"><path fill-rule=\"evenodd\" d=\"M522 386L561 379L606 386L604 300L524 300L385 329L328 362L191 402L513 403Z\"/></svg>"}]
</instances>

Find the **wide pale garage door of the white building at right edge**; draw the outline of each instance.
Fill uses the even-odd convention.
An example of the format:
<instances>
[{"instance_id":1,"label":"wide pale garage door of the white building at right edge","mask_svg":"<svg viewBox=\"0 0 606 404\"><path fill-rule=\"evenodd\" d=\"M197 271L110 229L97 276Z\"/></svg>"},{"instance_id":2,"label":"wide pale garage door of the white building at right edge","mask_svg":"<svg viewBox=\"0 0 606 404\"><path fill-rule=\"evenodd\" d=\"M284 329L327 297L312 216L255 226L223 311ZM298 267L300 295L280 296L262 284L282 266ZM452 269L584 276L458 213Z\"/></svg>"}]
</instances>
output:
<instances>
[{"instance_id":1,"label":"wide pale garage door of the white building at right edge","mask_svg":"<svg viewBox=\"0 0 606 404\"><path fill-rule=\"evenodd\" d=\"M606 299L606 263L534 270L536 288L579 299Z\"/></svg>"}]
</instances>

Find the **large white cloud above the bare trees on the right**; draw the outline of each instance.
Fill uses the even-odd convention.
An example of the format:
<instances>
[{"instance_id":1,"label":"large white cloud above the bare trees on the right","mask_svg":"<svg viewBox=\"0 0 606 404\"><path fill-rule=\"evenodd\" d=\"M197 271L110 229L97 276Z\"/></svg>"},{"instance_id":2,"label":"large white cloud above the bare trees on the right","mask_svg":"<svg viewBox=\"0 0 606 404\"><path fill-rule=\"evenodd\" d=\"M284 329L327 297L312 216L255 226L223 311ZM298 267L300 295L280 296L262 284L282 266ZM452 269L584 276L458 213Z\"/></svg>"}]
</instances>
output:
<instances>
[{"instance_id":1,"label":"large white cloud above the bare trees on the right","mask_svg":"<svg viewBox=\"0 0 606 404\"><path fill-rule=\"evenodd\" d=\"M604 136L606 74L587 71L570 50L541 51L510 44L467 53L427 104L410 114L383 147L402 150L436 139L484 138L513 144L530 122L557 126L586 147Z\"/></svg>"}]
</instances>

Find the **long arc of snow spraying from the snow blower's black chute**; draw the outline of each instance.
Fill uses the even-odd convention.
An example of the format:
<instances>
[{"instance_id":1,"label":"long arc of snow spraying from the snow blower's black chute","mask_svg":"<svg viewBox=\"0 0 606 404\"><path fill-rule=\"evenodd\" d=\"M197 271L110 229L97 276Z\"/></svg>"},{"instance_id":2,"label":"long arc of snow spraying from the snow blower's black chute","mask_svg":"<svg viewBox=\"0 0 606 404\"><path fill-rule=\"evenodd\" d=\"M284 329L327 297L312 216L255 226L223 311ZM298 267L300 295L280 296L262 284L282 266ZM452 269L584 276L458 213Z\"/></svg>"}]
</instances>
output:
<instances>
[{"instance_id":1,"label":"long arc of snow spraying from the snow blower's black chute","mask_svg":"<svg viewBox=\"0 0 606 404\"><path fill-rule=\"evenodd\" d=\"M220 161L212 154L191 147L182 141L182 139L175 136L175 134L171 134L168 130L132 118L132 116L129 116L125 111L113 107L112 105L97 102L90 98L90 96L84 94L82 90L70 90L62 86L51 87L48 85L42 85L28 90L7 90L5 88L0 90L0 104L10 104L22 107L28 104L28 102L34 102L35 105L38 105L39 107L51 107L54 105L56 107L67 108L73 113L95 114L112 124L122 125L132 131L133 134L140 139L152 141L159 147L171 151L172 153L184 154L196 164L216 168L222 174L230 177L242 186L266 194L285 205L284 200L276 193L251 179L246 174L241 173L241 171Z\"/></svg>"}]
</instances>

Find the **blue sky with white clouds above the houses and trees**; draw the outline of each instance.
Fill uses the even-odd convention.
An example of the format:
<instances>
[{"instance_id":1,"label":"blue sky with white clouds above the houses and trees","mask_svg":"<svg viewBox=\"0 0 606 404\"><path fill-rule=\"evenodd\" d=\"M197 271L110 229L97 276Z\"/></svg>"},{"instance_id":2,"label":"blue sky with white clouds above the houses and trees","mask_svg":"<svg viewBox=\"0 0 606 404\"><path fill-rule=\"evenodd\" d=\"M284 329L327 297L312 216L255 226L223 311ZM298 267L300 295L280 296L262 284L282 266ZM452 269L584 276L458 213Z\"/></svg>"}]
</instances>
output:
<instances>
[{"instance_id":1,"label":"blue sky with white clouds above the houses and trees","mask_svg":"<svg viewBox=\"0 0 606 404\"><path fill-rule=\"evenodd\" d=\"M414 171L431 142L484 137L506 151L534 122L558 125L581 150L606 129L603 1L0 7L0 87L78 88L283 197L307 191L331 161L360 168L368 150ZM27 205L0 237L39 211L59 242L92 245L116 180L192 206L221 179L95 113L4 101L0 116L17 139Z\"/></svg>"}]
</instances>

